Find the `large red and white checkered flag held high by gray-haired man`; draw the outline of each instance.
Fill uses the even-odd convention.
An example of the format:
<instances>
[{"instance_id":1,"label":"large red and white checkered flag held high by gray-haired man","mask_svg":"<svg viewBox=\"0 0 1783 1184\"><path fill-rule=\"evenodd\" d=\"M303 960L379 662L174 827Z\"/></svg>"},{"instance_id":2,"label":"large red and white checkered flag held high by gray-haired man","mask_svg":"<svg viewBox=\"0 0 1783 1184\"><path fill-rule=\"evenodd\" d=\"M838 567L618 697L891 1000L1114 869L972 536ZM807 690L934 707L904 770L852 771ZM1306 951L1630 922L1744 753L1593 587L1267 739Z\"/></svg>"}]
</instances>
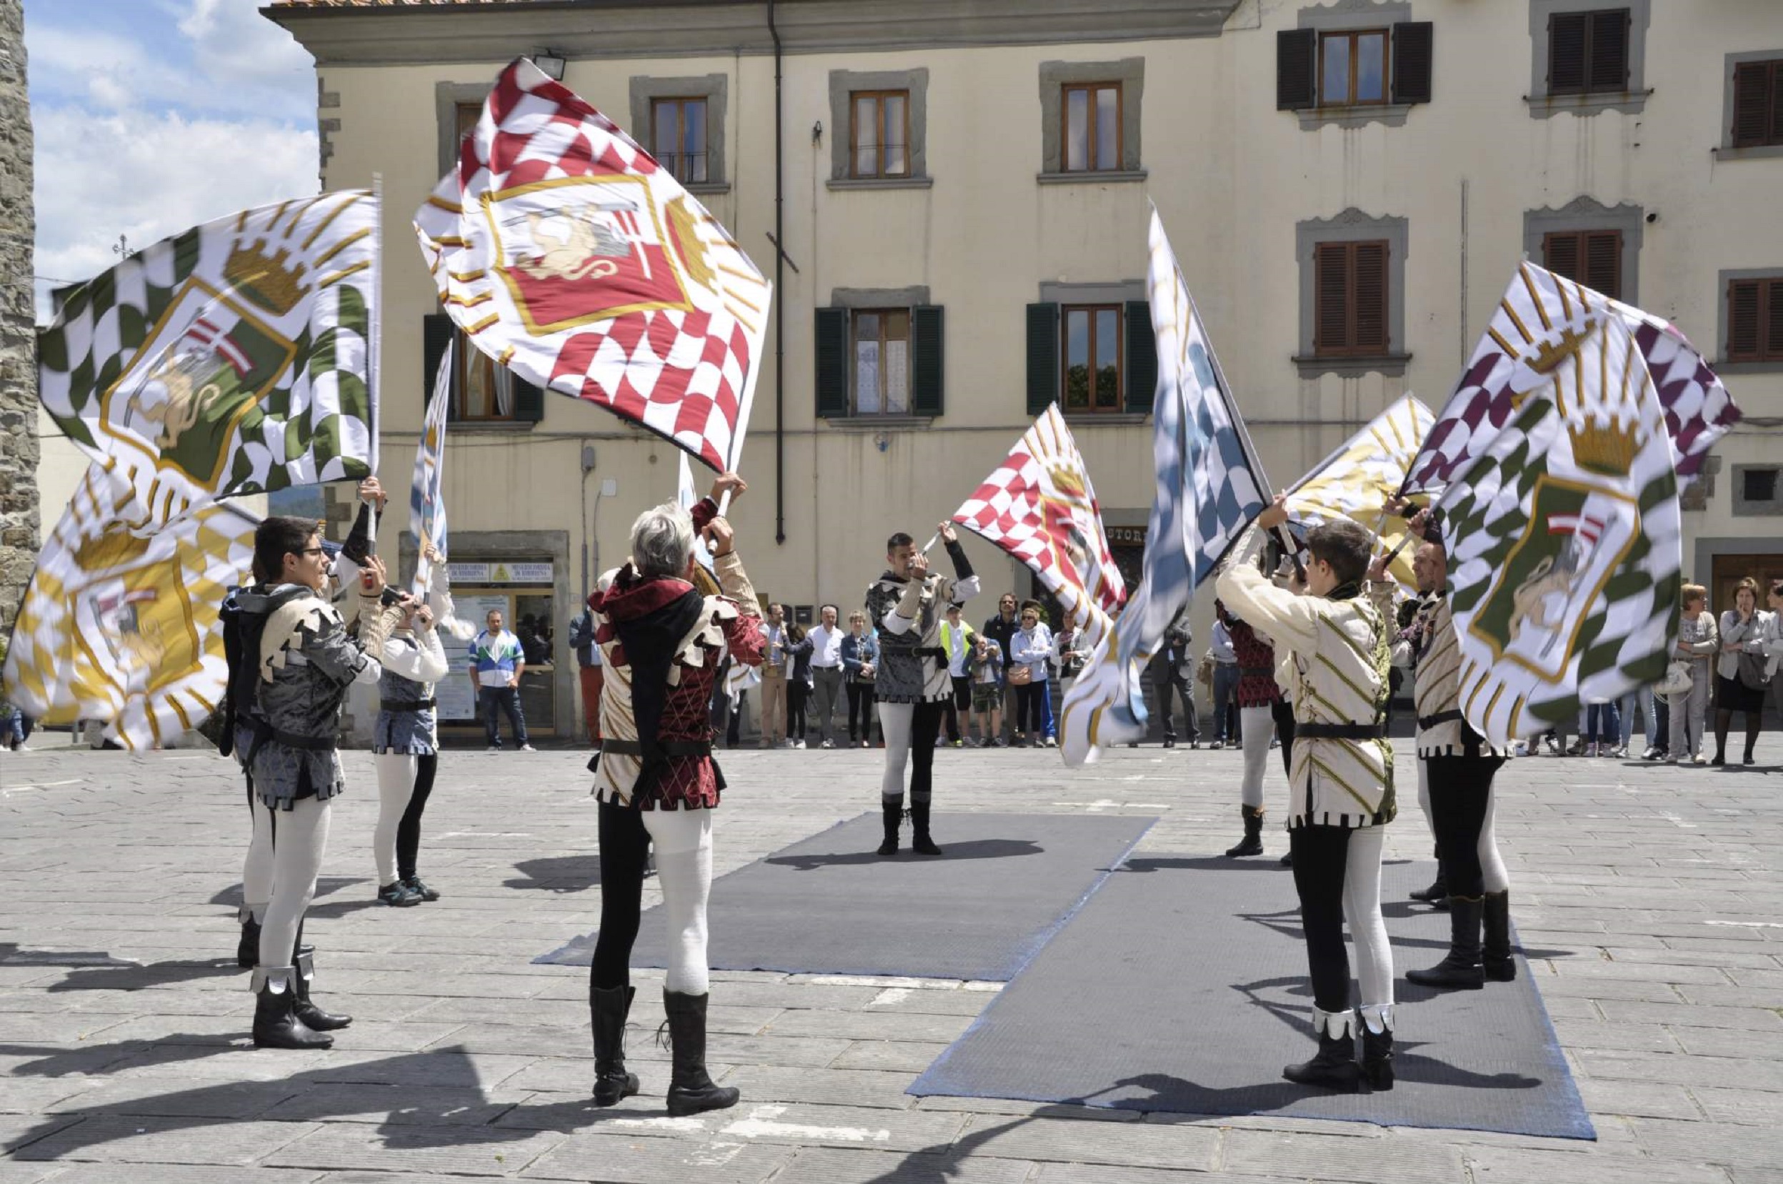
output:
<instances>
[{"instance_id":1,"label":"large red and white checkered flag held high by gray-haired man","mask_svg":"<svg viewBox=\"0 0 1783 1184\"><path fill-rule=\"evenodd\" d=\"M612 119L526 59L415 214L446 312L521 378L735 469L772 285Z\"/></svg>"}]
</instances>

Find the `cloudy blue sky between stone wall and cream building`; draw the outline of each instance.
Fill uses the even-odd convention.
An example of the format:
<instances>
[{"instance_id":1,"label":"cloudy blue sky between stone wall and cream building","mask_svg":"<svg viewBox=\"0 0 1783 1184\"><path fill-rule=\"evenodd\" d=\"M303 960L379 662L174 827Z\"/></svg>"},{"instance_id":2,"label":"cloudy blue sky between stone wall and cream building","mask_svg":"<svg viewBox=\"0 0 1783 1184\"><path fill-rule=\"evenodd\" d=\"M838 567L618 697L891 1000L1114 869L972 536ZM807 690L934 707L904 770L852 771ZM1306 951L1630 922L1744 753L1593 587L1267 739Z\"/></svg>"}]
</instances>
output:
<instances>
[{"instance_id":1,"label":"cloudy blue sky between stone wall and cream building","mask_svg":"<svg viewBox=\"0 0 1783 1184\"><path fill-rule=\"evenodd\" d=\"M25 0L37 312L130 250L317 191L316 70L266 0Z\"/></svg>"}]
</instances>

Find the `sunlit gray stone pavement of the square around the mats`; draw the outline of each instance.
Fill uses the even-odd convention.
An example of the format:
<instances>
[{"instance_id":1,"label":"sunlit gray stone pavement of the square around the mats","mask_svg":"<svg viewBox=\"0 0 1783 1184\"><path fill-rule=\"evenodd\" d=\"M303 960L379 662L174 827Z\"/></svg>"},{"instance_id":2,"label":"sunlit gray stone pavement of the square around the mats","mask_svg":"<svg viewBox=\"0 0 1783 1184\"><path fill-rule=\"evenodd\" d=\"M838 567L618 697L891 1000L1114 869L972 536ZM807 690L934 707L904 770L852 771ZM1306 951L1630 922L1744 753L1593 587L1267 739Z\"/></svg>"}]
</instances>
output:
<instances>
[{"instance_id":1,"label":"sunlit gray stone pavement of the square around the mats","mask_svg":"<svg viewBox=\"0 0 1783 1184\"><path fill-rule=\"evenodd\" d=\"M1555 954L1532 970L1599 1134L1583 1143L918 1100L904 1088L997 984L781 974L713 975L713 1075L744 1102L699 1118L661 1111L665 1054L642 1036L658 979L637 975L644 1093L596 1111L587 972L531 965L599 911L569 751L446 754L421 868L446 895L412 909L373 904L376 790L349 754L307 934L321 1002L357 1022L330 1052L253 1050L234 767L37 740L0 752L0 1184L1783 1180L1776 769L1544 758L1500 777L1514 915ZM719 872L877 801L879 752L724 763ZM1080 772L947 751L936 836L959 810L1132 811L1161 815L1141 851L1218 851L1237 772L1234 751L1122 749ZM1428 856L1414 802L1387 856Z\"/></svg>"}]
</instances>

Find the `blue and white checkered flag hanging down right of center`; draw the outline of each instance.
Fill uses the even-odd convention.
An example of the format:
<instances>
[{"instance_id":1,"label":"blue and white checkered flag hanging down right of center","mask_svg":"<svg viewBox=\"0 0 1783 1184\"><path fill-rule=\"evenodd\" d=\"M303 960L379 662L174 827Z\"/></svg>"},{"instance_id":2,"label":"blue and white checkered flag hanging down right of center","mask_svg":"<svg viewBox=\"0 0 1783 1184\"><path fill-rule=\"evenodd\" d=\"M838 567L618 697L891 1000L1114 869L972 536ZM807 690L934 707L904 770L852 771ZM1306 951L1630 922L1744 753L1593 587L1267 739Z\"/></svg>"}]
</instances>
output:
<instances>
[{"instance_id":1,"label":"blue and white checkered flag hanging down right of center","mask_svg":"<svg viewBox=\"0 0 1783 1184\"><path fill-rule=\"evenodd\" d=\"M1068 765L1095 760L1097 749L1145 735L1139 688L1145 662L1195 588L1269 499L1269 481L1232 405L1157 209L1152 210L1150 248L1146 292L1157 337L1152 410L1157 494L1139 587L1064 695L1059 749Z\"/></svg>"}]
</instances>

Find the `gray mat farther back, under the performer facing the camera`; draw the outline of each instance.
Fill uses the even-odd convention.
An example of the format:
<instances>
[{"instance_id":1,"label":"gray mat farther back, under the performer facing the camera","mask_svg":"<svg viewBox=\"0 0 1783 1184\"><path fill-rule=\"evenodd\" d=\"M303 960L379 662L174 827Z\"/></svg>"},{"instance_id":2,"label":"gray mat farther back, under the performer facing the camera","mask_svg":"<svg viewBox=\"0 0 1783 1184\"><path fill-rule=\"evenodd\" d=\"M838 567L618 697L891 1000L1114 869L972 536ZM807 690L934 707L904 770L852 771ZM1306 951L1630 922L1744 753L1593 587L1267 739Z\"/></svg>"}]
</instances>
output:
<instances>
[{"instance_id":1,"label":"gray mat farther back, under the performer facing the camera","mask_svg":"<svg viewBox=\"0 0 1783 1184\"><path fill-rule=\"evenodd\" d=\"M713 881L706 958L713 970L1007 981L1152 822L938 813L945 854L883 858L879 815L861 815ZM665 929L661 908L645 909L633 966L667 965ZM596 936L535 961L587 966Z\"/></svg>"}]
</instances>

